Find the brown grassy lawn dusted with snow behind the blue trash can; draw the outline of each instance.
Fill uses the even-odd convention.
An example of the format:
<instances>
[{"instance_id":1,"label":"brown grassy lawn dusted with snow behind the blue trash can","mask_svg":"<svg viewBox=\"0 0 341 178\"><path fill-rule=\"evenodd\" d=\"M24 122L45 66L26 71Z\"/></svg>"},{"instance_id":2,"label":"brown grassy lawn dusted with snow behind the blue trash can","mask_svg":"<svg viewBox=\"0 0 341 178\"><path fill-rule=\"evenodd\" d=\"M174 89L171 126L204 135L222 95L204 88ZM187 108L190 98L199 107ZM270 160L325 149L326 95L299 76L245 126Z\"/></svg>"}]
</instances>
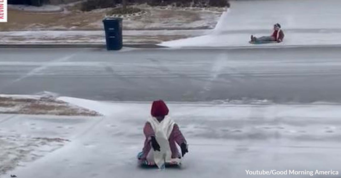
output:
<instances>
[{"instance_id":1,"label":"brown grassy lawn dusted with snow behind the blue trash can","mask_svg":"<svg viewBox=\"0 0 341 178\"><path fill-rule=\"evenodd\" d=\"M179 28L187 29L190 23L206 20L212 23L217 13L201 10L160 9L149 6L132 6L141 9L145 14L130 16L123 20L124 30L151 30ZM112 14L113 8L81 12L79 5L68 7L65 12L34 13L9 10L8 23L0 24L0 31L15 30L102 30L102 20L106 14ZM118 8L117 8L118 9ZM174 27L174 24L177 24ZM208 28L207 24L195 28Z\"/></svg>"}]
</instances>

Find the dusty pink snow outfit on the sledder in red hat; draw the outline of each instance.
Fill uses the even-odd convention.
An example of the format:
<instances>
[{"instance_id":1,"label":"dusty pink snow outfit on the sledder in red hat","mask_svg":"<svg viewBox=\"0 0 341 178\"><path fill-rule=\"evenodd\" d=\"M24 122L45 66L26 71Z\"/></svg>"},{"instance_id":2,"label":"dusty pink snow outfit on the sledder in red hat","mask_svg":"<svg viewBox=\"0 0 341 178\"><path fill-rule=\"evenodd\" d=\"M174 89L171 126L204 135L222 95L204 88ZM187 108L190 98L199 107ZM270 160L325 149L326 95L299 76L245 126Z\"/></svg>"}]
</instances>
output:
<instances>
[{"instance_id":1,"label":"dusty pink snow outfit on the sledder in red hat","mask_svg":"<svg viewBox=\"0 0 341 178\"><path fill-rule=\"evenodd\" d=\"M151 136L155 137L155 132L149 122L146 122L145 127L143 128L143 132L146 136L146 140L145 140L145 145L142 150L143 156L141 159L146 159L151 149ZM187 142L186 142L186 139L183 137L177 124L174 124L173 130L170 133L168 141L169 141L170 151L172 152L172 158L179 158L180 154L175 143L180 145L181 143L186 144Z\"/></svg>"}]
</instances>

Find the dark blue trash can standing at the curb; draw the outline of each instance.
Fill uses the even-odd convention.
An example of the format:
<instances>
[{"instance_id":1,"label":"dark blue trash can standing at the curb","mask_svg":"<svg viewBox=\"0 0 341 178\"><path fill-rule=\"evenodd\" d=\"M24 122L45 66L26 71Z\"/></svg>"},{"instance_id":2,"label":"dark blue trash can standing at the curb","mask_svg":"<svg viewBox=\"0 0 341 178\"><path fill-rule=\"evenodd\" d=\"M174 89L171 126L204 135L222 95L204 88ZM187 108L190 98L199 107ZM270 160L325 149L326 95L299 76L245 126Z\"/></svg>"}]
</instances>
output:
<instances>
[{"instance_id":1,"label":"dark blue trash can standing at the curb","mask_svg":"<svg viewBox=\"0 0 341 178\"><path fill-rule=\"evenodd\" d=\"M103 19L107 50L122 48L122 18Z\"/></svg>"}]
</instances>

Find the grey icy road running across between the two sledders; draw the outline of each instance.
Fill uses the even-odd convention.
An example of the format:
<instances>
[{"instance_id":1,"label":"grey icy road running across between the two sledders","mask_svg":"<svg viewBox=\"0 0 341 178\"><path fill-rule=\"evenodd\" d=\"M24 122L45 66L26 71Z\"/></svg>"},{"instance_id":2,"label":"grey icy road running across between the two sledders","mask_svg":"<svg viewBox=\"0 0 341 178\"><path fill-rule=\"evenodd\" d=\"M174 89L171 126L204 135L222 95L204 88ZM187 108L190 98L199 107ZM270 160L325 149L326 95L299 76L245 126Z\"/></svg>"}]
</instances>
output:
<instances>
[{"instance_id":1,"label":"grey icy road running across between the two sledders","mask_svg":"<svg viewBox=\"0 0 341 178\"><path fill-rule=\"evenodd\" d=\"M105 101L341 102L341 50L0 49L0 93Z\"/></svg>"}]
</instances>

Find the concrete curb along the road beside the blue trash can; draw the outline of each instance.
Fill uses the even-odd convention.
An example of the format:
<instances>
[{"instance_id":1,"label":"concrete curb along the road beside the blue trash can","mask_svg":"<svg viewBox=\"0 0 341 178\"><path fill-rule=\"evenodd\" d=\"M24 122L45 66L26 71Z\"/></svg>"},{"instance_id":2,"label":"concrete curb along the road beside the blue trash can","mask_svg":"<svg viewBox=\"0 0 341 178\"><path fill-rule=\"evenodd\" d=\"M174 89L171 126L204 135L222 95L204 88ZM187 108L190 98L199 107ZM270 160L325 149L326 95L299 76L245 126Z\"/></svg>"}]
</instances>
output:
<instances>
[{"instance_id":1,"label":"concrete curb along the road beside the blue trash can","mask_svg":"<svg viewBox=\"0 0 341 178\"><path fill-rule=\"evenodd\" d=\"M157 44L123 44L127 48L167 48ZM0 48L106 48L105 44L0 44Z\"/></svg>"}]
</instances>

